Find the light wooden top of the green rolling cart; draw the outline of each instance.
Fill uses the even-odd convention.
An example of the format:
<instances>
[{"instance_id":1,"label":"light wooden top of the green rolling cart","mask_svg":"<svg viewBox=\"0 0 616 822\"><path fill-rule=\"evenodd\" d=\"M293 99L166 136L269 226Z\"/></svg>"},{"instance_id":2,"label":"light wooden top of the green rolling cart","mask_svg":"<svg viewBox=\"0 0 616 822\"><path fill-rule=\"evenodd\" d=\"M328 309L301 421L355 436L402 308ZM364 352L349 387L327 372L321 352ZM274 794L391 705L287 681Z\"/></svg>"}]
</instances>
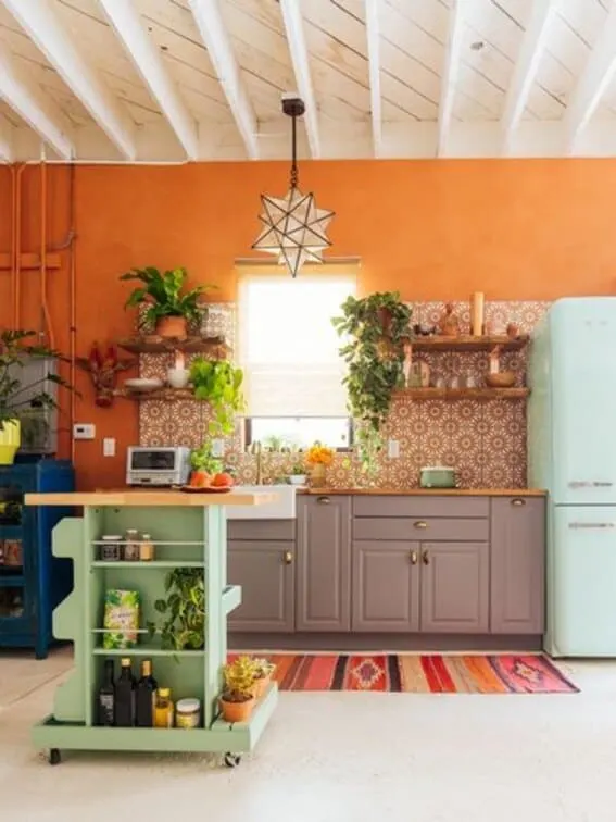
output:
<instances>
[{"instance_id":1,"label":"light wooden top of the green rolling cart","mask_svg":"<svg viewBox=\"0 0 616 822\"><path fill-rule=\"evenodd\" d=\"M257 494L184 494L178 490L99 490L75 491L73 494L26 494L26 506L185 506L203 508L204 506L265 506L275 502L275 491Z\"/></svg>"}]
</instances>

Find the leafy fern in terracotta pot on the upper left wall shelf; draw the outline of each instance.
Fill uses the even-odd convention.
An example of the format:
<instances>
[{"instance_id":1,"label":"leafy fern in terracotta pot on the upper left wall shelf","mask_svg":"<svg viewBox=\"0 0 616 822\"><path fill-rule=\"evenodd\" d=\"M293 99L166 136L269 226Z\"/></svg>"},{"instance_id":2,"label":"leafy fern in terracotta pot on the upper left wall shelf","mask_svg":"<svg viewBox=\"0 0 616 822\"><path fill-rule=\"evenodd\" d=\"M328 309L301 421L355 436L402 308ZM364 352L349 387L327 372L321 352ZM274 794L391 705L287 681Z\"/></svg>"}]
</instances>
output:
<instances>
[{"instance_id":1,"label":"leafy fern in terracotta pot on the upper left wall shelf","mask_svg":"<svg viewBox=\"0 0 616 822\"><path fill-rule=\"evenodd\" d=\"M183 267L161 272L149 265L133 269L120 277L142 284L135 288L125 304L125 308L146 307L139 316L140 329L149 326L161 337L186 339L189 323L201 325L205 308L200 298L215 286L197 286L186 291L187 276Z\"/></svg>"}]
</instances>

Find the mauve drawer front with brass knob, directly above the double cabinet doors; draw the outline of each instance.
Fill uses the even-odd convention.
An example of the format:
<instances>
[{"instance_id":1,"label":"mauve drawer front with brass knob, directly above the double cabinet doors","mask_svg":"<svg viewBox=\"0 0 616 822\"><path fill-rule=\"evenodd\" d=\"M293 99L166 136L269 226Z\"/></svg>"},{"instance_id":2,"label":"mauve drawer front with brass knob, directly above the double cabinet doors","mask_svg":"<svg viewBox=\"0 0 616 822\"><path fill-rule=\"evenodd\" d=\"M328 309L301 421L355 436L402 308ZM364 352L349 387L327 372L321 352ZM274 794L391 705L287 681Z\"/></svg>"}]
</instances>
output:
<instances>
[{"instance_id":1,"label":"mauve drawer front with brass knob, directly above the double cabinet doors","mask_svg":"<svg viewBox=\"0 0 616 822\"><path fill-rule=\"evenodd\" d=\"M353 539L483 541L490 538L488 519L356 516Z\"/></svg>"}]
</instances>

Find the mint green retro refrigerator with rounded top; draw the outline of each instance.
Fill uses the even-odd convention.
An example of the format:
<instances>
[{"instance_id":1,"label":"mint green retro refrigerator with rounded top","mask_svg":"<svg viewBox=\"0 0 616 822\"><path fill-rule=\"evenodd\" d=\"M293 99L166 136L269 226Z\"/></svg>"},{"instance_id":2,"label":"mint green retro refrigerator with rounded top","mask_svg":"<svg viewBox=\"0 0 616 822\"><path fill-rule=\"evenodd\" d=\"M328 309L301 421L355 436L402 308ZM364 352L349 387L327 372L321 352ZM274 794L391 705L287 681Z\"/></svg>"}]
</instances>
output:
<instances>
[{"instance_id":1,"label":"mint green retro refrigerator with rounded top","mask_svg":"<svg viewBox=\"0 0 616 822\"><path fill-rule=\"evenodd\" d=\"M616 657L616 297L554 302L528 384L528 483L550 495L544 648Z\"/></svg>"}]
</instances>

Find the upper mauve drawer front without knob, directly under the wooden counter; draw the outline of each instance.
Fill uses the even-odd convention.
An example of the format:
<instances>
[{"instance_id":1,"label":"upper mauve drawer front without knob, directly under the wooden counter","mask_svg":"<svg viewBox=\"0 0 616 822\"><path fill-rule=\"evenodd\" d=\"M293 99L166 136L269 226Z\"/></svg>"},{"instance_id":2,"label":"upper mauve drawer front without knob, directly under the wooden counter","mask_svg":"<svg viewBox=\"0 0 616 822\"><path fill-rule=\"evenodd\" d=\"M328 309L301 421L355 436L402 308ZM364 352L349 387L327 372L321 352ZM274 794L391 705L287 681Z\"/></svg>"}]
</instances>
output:
<instances>
[{"instance_id":1,"label":"upper mauve drawer front without knob, directly under the wooden counter","mask_svg":"<svg viewBox=\"0 0 616 822\"><path fill-rule=\"evenodd\" d=\"M431 494L419 496L361 496L353 497L354 516L488 516L488 497L443 497Z\"/></svg>"}]
</instances>

